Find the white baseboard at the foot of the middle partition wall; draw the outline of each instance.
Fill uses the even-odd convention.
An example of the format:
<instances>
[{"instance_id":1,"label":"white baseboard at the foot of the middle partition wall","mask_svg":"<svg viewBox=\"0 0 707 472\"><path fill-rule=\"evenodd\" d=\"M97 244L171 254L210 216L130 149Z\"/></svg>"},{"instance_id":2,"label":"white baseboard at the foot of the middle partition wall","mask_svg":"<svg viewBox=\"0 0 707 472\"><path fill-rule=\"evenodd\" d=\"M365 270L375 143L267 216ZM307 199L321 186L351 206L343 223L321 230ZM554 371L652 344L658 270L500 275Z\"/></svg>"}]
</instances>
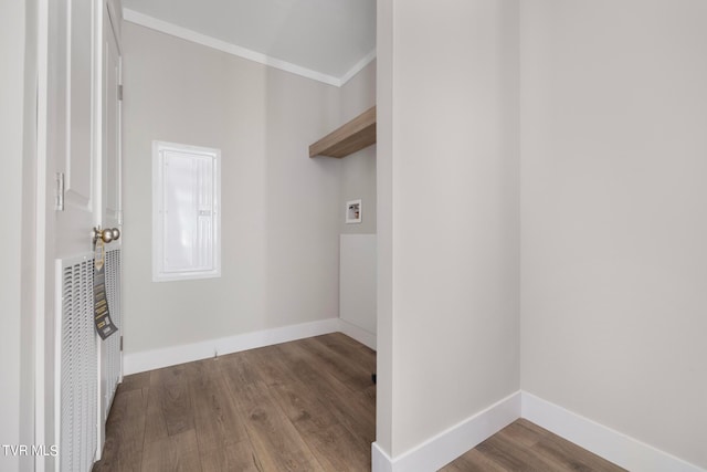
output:
<instances>
[{"instance_id":1,"label":"white baseboard at the foot of the middle partition wall","mask_svg":"<svg viewBox=\"0 0 707 472\"><path fill-rule=\"evenodd\" d=\"M452 462L486 438L500 431L520 417L520 391L442 431L410 451L391 459L373 443L373 472L429 472Z\"/></svg>"}]
</instances>

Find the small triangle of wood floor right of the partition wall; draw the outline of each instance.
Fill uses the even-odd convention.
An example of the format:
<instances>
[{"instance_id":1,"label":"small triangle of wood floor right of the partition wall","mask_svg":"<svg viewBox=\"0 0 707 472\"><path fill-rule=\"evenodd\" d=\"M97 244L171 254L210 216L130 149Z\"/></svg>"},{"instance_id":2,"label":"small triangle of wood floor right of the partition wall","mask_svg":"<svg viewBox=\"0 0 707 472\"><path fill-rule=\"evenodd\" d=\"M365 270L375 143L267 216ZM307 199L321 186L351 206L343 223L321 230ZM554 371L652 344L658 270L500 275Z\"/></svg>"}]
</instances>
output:
<instances>
[{"instance_id":1,"label":"small triangle of wood floor right of the partition wall","mask_svg":"<svg viewBox=\"0 0 707 472\"><path fill-rule=\"evenodd\" d=\"M515 421L442 468L443 472L623 470L525 419Z\"/></svg>"}]
</instances>

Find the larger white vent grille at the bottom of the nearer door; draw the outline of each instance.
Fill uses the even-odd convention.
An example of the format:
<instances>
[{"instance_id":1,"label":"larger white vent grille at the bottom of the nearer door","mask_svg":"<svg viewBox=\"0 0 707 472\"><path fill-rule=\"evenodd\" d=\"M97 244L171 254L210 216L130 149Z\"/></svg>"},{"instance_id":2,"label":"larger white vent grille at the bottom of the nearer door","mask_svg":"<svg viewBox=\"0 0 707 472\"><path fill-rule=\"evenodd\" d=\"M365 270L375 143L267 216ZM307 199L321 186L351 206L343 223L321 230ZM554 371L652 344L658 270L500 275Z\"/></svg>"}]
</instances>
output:
<instances>
[{"instance_id":1,"label":"larger white vent grille at the bottom of the nearer door","mask_svg":"<svg viewBox=\"0 0 707 472\"><path fill-rule=\"evenodd\" d=\"M97 448L98 366L93 259L61 261L60 470L89 471Z\"/></svg>"}]
</instances>

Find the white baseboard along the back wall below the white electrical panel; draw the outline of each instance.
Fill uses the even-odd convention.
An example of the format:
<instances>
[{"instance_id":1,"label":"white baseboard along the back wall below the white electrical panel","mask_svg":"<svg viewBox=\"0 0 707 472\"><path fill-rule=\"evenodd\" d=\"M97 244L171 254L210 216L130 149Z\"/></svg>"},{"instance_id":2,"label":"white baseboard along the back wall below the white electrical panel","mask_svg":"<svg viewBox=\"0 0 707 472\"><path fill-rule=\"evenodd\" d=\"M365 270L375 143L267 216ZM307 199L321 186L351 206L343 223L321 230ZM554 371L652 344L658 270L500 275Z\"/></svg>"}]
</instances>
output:
<instances>
[{"instance_id":1,"label":"white baseboard along the back wall below the white electrical panel","mask_svg":"<svg viewBox=\"0 0 707 472\"><path fill-rule=\"evenodd\" d=\"M263 329L236 336L209 339L201 343L183 344L162 349L126 354L123 358L124 375L176 366L192 360L238 353L273 344L287 343L304 337L319 336L339 331L339 318L328 318L279 328Z\"/></svg>"}]
</instances>

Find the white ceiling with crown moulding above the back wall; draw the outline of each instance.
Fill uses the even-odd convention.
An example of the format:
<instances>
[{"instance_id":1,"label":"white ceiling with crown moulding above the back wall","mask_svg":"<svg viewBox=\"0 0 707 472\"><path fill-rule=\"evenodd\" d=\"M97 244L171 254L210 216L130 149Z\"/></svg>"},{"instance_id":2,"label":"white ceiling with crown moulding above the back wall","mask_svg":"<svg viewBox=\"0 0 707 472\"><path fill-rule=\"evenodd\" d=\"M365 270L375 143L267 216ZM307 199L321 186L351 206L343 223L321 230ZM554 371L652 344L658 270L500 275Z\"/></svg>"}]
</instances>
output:
<instances>
[{"instance_id":1,"label":"white ceiling with crown moulding above the back wall","mask_svg":"<svg viewBox=\"0 0 707 472\"><path fill-rule=\"evenodd\" d=\"M376 0L123 0L123 6L127 21L279 69L291 65L291 72L335 85L376 55Z\"/></svg>"}]
</instances>

